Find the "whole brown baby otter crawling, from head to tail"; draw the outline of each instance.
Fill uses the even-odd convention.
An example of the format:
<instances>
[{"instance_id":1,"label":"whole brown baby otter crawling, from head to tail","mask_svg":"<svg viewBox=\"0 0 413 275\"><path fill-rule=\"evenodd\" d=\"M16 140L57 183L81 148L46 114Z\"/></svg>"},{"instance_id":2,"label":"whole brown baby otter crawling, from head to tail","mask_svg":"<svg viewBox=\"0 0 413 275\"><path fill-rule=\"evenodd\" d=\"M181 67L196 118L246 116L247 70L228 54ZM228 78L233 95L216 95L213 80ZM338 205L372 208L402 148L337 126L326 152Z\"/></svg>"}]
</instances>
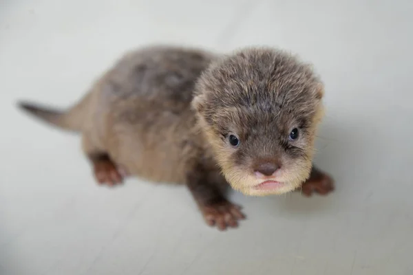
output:
<instances>
[{"instance_id":1,"label":"whole brown baby otter crawling, from head to tail","mask_svg":"<svg viewBox=\"0 0 413 275\"><path fill-rule=\"evenodd\" d=\"M205 221L224 230L244 219L228 184L254 196L333 189L312 166L323 95L310 65L282 50L159 45L125 54L67 111L20 106L80 131L100 184L125 175L186 184Z\"/></svg>"}]
</instances>

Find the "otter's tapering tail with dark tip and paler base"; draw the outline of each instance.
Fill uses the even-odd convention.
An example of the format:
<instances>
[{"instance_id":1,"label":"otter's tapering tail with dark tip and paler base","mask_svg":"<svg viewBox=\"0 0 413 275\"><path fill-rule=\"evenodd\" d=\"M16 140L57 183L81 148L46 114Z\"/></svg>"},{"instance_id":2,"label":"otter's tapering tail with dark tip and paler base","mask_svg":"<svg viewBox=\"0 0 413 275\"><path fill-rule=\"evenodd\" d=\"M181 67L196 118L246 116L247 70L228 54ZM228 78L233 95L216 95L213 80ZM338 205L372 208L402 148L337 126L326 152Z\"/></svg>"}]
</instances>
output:
<instances>
[{"instance_id":1,"label":"otter's tapering tail with dark tip and paler base","mask_svg":"<svg viewBox=\"0 0 413 275\"><path fill-rule=\"evenodd\" d=\"M78 132L83 129L83 122L89 103L90 94L67 111L45 107L40 104L19 101L19 108L34 117L67 131Z\"/></svg>"}]
</instances>

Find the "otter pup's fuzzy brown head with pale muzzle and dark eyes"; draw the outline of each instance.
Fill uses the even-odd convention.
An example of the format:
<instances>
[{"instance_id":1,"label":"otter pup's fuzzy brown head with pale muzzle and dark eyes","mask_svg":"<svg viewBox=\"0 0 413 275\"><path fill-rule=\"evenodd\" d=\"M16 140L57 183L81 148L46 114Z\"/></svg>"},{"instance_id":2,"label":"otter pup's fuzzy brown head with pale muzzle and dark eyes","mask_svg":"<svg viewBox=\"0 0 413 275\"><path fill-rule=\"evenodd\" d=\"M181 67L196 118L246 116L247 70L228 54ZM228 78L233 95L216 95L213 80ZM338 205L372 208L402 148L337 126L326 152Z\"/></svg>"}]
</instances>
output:
<instances>
[{"instance_id":1,"label":"otter pup's fuzzy brown head with pale muzzle and dark eyes","mask_svg":"<svg viewBox=\"0 0 413 275\"><path fill-rule=\"evenodd\" d=\"M309 177L323 85L285 52L246 49L200 77L193 107L229 184L245 195L284 194Z\"/></svg>"}]
</instances>

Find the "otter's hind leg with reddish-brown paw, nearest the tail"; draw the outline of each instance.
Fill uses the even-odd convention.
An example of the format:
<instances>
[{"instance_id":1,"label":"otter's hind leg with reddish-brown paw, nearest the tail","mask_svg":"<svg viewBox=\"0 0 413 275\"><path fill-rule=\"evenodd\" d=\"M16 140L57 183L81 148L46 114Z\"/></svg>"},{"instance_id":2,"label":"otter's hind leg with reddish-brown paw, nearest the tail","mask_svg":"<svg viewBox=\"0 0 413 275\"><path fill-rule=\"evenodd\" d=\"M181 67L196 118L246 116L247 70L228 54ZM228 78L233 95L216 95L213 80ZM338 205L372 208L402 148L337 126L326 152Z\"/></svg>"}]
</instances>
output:
<instances>
[{"instance_id":1,"label":"otter's hind leg with reddish-brown paw, nearest the tail","mask_svg":"<svg viewBox=\"0 0 413 275\"><path fill-rule=\"evenodd\" d=\"M87 159L92 163L94 177L98 184L114 186L122 183L124 174L122 170L116 166L108 153L92 142L88 135L82 136L82 147Z\"/></svg>"}]
</instances>

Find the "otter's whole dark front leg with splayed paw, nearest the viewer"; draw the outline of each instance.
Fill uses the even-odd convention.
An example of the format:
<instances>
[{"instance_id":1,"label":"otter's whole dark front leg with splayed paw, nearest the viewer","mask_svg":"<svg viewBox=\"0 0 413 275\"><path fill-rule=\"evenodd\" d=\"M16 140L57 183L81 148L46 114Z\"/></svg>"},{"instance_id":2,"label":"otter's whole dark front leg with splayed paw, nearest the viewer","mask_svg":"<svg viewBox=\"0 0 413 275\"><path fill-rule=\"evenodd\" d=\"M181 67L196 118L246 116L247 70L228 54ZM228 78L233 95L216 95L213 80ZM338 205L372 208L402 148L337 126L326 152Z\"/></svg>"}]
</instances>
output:
<instances>
[{"instance_id":1,"label":"otter's whole dark front leg with splayed paw, nearest the viewer","mask_svg":"<svg viewBox=\"0 0 413 275\"><path fill-rule=\"evenodd\" d=\"M187 186L193 195L205 222L219 230L236 228L238 220L245 219L241 207L228 201L220 188L208 180L206 171L198 168L187 176Z\"/></svg>"}]
</instances>

